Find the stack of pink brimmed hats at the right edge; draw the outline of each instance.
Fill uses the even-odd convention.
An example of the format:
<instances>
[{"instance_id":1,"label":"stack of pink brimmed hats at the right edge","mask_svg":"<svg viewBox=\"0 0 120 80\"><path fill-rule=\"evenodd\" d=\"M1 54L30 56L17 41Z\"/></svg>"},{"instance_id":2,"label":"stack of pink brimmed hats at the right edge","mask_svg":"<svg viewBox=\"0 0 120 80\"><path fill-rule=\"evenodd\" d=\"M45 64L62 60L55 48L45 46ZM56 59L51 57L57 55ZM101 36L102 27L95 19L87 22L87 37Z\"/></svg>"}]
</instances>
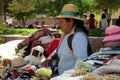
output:
<instances>
[{"instance_id":1,"label":"stack of pink brimmed hats at the right edge","mask_svg":"<svg viewBox=\"0 0 120 80\"><path fill-rule=\"evenodd\" d=\"M116 45L120 43L120 27L119 26L110 26L105 30L105 38L103 43L107 46ZM116 44L117 43L117 44Z\"/></svg>"}]
</instances>

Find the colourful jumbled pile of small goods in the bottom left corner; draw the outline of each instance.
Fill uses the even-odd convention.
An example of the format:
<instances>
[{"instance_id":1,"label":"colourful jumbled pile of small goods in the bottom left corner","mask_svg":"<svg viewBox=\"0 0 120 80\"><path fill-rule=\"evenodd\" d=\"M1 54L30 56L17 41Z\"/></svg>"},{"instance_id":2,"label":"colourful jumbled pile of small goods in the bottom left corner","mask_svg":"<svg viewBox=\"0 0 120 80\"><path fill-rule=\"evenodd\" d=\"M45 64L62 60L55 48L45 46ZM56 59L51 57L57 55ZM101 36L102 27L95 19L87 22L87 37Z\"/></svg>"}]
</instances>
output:
<instances>
[{"instance_id":1,"label":"colourful jumbled pile of small goods in the bottom left corner","mask_svg":"<svg viewBox=\"0 0 120 80\"><path fill-rule=\"evenodd\" d=\"M22 57L4 59L0 65L0 80L50 80L52 70L30 65Z\"/></svg>"}]
</instances>

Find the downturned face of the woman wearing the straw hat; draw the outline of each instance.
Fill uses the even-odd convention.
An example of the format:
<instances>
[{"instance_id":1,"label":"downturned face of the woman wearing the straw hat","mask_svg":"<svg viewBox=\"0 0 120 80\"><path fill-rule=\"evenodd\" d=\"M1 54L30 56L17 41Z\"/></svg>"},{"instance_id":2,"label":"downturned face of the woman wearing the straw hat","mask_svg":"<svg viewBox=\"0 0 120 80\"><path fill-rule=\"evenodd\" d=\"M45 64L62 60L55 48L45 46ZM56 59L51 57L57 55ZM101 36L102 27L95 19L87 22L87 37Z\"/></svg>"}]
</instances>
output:
<instances>
[{"instance_id":1,"label":"downturned face of the woman wearing the straw hat","mask_svg":"<svg viewBox=\"0 0 120 80\"><path fill-rule=\"evenodd\" d=\"M65 19L61 18L59 19L59 25L60 25L61 30L65 34L68 34L73 28L73 21L72 19L70 21L66 21Z\"/></svg>"}]
</instances>

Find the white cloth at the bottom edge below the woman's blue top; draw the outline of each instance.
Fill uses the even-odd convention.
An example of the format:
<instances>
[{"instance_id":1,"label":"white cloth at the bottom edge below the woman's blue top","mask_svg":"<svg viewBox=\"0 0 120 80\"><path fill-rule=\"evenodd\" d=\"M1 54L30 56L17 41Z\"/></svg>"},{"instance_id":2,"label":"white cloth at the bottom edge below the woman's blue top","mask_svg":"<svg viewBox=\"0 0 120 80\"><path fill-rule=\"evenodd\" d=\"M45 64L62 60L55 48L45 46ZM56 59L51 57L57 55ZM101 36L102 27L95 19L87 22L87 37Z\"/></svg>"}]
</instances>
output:
<instances>
[{"instance_id":1,"label":"white cloth at the bottom edge below the woman's blue top","mask_svg":"<svg viewBox=\"0 0 120 80\"><path fill-rule=\"evenodd\" d=\"M80 80L83 76L77 76L77 77L70 77L70 75L74 72L74 70L68 70L64 71L62 75L59 75L57 77L53 77L50 80Z\"/></svg>"}]
</instances>

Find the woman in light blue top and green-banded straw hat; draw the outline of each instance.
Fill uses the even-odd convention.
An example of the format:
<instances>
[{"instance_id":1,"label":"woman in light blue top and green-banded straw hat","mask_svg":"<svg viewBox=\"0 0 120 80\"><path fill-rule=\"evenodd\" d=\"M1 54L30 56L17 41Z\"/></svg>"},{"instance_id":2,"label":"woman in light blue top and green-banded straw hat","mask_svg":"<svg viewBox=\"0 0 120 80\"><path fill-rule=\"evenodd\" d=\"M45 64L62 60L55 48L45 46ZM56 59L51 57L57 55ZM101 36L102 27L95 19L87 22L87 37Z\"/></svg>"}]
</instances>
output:
<instances>
[{"instance_id":1,"label":"woman in light blue top and green-banded straw hat","mask_svg":"<svg viewBox=\"0 0 120 80\"><path fill-rule=\"evenodd\" d=\"M59 43L56 54L52 54L49 58L42 63L43 66L50 65L53 59L58 61L58 74L62 74L65 70L73 69L77 60L87 58L87 37L88 31L84 27L84 23L80 20L78 10L73 4L66 4L63 6L62 11L56 17L59 21L61 30L63 31L62 39ZM68 49L68 37L74 30L80 28L81 31L76 32L72 40L73 54ZM85 33L85 34L83 34ZM57 58L56 58L57 57Z\"/></svg>"}]
</instances>

